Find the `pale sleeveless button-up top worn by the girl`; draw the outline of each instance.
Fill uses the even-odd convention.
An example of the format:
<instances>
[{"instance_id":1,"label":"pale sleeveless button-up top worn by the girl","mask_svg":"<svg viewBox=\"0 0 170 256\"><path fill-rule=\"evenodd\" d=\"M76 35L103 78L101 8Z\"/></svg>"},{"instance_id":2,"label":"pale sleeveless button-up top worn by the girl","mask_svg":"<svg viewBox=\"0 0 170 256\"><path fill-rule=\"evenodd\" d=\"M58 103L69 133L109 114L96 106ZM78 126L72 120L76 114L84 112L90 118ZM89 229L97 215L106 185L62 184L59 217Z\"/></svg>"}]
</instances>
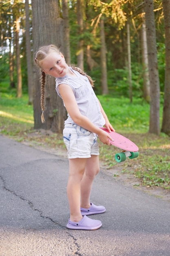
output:
<instances>
[{"instance_id":1,"label":"pale sleeveless button-up top worn by the girl","mask_svg":"<svg viewBox=\"0 0 170 256\"><path fill-rule=\"evenodd\" d=\"M90 119L90 121L97 127L104 126L105 119L101 113L98 99L87 76L81 75L76 70L73 70L72 67L69 68L74 72L76 77L66 75L64 77L56 78L55 89L57 94L61 97L58 88L60 84L68 84L73 90L80 113L88 117L88 119ZM64 124L74 124L69 113Z\"/></svg>"}]
</instances>

